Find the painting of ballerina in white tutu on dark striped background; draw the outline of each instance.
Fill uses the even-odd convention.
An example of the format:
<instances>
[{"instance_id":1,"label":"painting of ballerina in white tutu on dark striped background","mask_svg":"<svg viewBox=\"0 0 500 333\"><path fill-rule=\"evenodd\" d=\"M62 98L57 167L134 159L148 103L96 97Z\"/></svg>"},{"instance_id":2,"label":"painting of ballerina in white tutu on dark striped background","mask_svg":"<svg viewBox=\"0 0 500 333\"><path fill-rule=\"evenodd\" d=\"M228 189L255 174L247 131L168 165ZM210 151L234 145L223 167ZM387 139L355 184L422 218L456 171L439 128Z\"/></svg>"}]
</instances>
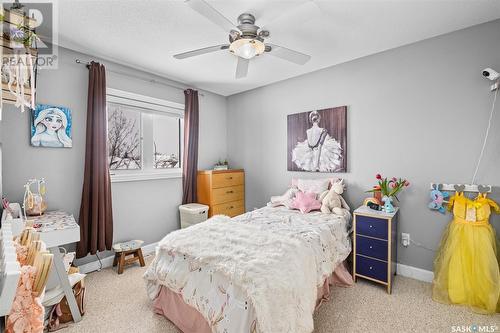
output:
<instances>
[{"instance_id":1,"label":"painting of ballerina in white tutu on dark striped background","mask_svg":"<svg viewBox=\"0 0 500 333\"><path fill-rule=\"evenodd\" d=\"M288 170L347 172L347 106L288 115Z\"/></svg>"}]
</instances>

